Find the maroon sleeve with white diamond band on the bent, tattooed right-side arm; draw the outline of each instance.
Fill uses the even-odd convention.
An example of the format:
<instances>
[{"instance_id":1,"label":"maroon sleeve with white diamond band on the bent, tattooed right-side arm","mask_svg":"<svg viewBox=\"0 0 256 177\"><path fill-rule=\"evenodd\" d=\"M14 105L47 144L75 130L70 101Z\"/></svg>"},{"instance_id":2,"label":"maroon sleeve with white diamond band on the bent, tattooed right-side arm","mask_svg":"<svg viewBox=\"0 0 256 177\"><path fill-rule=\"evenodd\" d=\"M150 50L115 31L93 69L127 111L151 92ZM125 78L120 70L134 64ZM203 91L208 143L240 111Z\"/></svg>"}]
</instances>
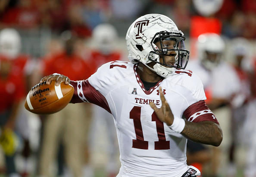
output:
<instances>
[{"instance_id":1,"label":"maroon sleeve with white diamond band on the bent, tattooed right-side arm","mask_svg":"<svg viewBox=\"0 0 256 177\"><path fill-rule=\"evenodd\" d=\"M212 121L219 124L217 118L214 116L211 110L209 110L208 106L205 104L204 100L200 100L199 102L190 105L184 111L185 118L190 122L203 122L203 121Z\"/></svg>"}]
</instances>

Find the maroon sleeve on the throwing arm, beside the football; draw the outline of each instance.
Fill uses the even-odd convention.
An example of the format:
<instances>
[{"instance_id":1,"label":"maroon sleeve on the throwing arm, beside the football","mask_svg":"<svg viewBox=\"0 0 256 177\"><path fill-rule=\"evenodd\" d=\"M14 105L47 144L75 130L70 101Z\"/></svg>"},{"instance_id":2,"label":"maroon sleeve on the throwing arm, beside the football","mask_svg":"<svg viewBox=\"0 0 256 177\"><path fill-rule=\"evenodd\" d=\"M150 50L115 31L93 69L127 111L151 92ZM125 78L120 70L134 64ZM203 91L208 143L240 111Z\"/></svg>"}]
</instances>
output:
<instances>
[{"instance_id":1,"label":"maroon sleeve on the throwing arm, beside the football","mask_svg":"<svg viewBox=\"0 0 256 177\"><path fill-rule=\"evenodd\" d=\"M88 80L70 81L70 84L75 89L71 103L90 102L106 109L106 111L111 113L106 98L94 87L92 87Z\"/></svg>"}]
</instances>

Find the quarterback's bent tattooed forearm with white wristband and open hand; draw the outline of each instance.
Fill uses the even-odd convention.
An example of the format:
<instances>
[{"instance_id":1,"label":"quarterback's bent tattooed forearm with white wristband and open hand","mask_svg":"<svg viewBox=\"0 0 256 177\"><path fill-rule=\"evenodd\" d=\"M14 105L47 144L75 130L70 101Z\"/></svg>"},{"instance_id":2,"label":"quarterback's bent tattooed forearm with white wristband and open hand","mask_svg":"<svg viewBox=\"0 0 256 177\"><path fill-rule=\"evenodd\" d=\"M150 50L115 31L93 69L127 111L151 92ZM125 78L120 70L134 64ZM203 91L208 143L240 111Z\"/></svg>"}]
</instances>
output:
<instances>
[{"instance_id":1,"label":"quarterback's bent tattooed forearm with white wristband and open hand","mask_svg":"<svg viewBox=\"0 0 256 177\"><path fill-rule=\"evenodd\" d=\"M160 98L162 100L162 107L156 108L156 105L153 102L150 102L150 106L156 112L157 117L162 122L165 122L171 129L175 132L181 133L184 137L203 144L210 144L213 146L219 146L222 142L222 129L218 124L218 121L209 121L209 119L205 119L205 121L200 122L190 122L179 117L174 117L172 111L169 107L169 104L165 100L165 97L162 94L162 88L159 88ZM198 104L203 104L203 102L199 102ZM198 115L201 116L209 116L207 114L210 110L199 111ZM194 115L194 117L190 117L191 120L198 115ZM213 114L212 114L213 115Z\"/></svg>"}]
</instances>

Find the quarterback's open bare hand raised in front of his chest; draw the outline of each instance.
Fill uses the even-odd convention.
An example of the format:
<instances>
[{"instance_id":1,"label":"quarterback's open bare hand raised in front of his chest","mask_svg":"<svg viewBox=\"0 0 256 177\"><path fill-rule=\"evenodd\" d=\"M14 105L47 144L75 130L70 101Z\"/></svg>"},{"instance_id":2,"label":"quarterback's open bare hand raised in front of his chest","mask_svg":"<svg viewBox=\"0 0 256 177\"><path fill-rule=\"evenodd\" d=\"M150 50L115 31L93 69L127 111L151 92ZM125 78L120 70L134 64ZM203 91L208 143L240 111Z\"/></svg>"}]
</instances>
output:
<instances>
[{"instance_id":1,"label":"quarterback's open bare hand raised in front of his chest","mask_svg":"<svg viewBox=\"0 0 256 177\"><path fill-rule=\"evenodd\" d=\"M167 101L165 100L165 96L162 93L162 87L159 87L159 93L162 101L161 108L157 108L153 102L150 102L149 104L151 108L153 108L153 110L155 111L159 120L161 120L162 122L165 122L168 126L171 126L173 123L174 117L172 114L172 110L169 104L167 103Z\"/></svg>"}]
</instances>

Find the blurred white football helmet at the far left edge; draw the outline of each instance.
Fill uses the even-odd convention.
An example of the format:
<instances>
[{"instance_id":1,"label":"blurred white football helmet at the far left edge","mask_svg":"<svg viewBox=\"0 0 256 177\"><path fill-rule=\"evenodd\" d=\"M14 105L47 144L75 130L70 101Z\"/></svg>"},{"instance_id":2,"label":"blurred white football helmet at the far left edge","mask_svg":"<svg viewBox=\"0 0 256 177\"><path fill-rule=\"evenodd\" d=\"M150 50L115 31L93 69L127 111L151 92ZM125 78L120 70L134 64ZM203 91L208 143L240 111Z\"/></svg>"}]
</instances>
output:
<instances>
[{"instance_id":1,"label":"blurred white football helmet at the far left edge","mask_svg":"<svg viewBox=\"0 0 256 177\"><path fill-rule=\"evenodd\" d=\"M0 31L0 53L10 60L15 59L21 50L21 36L13 28Z\"/></svg>"}]
</instances>

